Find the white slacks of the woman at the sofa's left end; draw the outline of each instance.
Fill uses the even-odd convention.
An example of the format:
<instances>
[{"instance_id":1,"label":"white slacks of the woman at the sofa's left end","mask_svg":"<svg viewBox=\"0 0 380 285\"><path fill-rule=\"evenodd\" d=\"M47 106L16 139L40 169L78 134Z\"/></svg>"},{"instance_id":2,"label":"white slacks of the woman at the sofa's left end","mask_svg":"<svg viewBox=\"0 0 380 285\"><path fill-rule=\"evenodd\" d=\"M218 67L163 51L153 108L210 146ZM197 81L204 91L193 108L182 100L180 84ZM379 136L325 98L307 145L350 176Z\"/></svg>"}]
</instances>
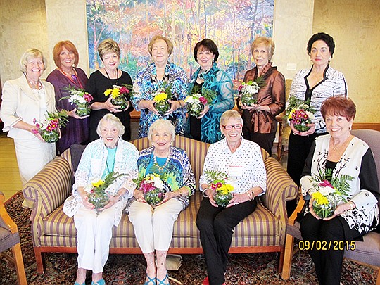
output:
<instances>
[{"instance_id":1,"label":"white slacks of the woman at the sofa's left end","mask_svg":"<svg viewBox=\"0 0 380 285\"><path fill-rule=\"evenodd\" d=\"M81 205L74 215L77 229L78 268L103 272L110 253L115 205L96 214Z\"/></svg>"}]
</instances>

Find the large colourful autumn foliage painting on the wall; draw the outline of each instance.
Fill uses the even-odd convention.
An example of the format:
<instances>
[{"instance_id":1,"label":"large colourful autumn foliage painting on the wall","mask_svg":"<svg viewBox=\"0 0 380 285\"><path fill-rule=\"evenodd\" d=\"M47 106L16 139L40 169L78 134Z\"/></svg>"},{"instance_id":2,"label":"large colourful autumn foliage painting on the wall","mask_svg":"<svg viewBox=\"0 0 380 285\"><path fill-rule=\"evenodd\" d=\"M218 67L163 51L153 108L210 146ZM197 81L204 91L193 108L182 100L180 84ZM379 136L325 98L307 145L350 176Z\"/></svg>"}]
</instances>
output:
<instances>
[{"instance_id":1,"label":"large colourful autumn foliage painting on the wall","mask_svg":"<svg viewBox=\"0 0 380 285\"><path fill-rule=\"evenodd\" d=\"M135 78L151 62L148 42L160 34L174 44L169 61L189 76L198 68L195 44L213 39L219 67L236 82L253 67L253 39L272 37L273 8L274 0L87 0L91 72L101 65L96 47L112 38L122 51L120 68Z\"/></svg>"}]
</instances>

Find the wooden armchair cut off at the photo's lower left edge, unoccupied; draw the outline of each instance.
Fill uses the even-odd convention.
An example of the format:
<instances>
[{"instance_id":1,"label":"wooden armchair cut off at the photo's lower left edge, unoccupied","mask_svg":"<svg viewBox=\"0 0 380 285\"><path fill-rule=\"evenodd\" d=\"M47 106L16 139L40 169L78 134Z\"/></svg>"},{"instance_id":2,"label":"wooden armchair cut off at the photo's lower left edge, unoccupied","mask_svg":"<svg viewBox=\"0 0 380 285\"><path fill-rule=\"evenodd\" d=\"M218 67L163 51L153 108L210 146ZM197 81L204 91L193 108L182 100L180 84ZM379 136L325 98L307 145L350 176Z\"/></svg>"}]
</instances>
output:
<instances>
[{"instance_id":1,"label":"wooden armchair cut off at the photo's lower left edge, unoccupied","mask_svg":"<svg viewBox=\"0 0 380 285\"><path fill-rule=\"evenodd\" d=\"M4 253L4 251L9 248L11 248L13 257ZM18 284L27 284L17 225L13 222L11 217L9 217L8 213L6 213L4 194L0 191L0 256L1 255L15 265Z\"/></svg>"}]
</instances>

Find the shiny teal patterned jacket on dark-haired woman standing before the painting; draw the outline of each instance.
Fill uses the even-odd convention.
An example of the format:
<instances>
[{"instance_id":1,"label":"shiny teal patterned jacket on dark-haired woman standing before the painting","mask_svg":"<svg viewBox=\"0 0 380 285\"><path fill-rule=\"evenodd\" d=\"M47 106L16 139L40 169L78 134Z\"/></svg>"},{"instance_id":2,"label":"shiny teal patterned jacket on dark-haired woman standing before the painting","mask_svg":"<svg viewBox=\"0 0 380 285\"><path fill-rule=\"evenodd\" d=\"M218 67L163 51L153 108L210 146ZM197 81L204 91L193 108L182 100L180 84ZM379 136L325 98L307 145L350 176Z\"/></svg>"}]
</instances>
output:
<instances>
[{"instance_id":1,"label":"shiny teal patterned jacket on dark-haired woman standing before the painting","mask_svg":"<svg viewBox=\"0 0 380 285\"><path fill-rule=\"evenodd\" d=\"M189 82L189 93L194 87L198 73L201 68L198 68ZM213 63L213 67L209 72L203 74L202 89L211 89L216 91L217 96L213 103L210 104L210 109L201 118L201 141L213 144L222 139L220 132L219 121L220 117L226 110L234 108L234 91L231 78L226 72L217 68L217 64ZM188 132L189 127L186 127L186 137L191 137Z\"/></svg>"}]
</instances>

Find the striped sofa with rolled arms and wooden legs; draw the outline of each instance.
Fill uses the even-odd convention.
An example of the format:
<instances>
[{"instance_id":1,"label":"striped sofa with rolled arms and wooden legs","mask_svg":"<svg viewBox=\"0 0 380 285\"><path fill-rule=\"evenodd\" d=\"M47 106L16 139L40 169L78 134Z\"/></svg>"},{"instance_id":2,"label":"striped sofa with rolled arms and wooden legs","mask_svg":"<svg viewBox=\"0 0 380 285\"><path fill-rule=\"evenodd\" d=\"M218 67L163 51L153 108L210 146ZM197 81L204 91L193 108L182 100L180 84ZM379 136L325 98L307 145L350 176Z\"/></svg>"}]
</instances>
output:
<instances>
[{"instance_id":1,"label":"striped sofa with rolled arms and wooden legs","mask_svg":"<svg viewBox=\"0 0 380 285\"><path fill-rule=\"evenodd\" d=\"M132 143L139 149L150 146L148 139ZM184 137L176 137L174 146L183 148L189 156L194 175L201 175L203 161L209 144ZM281 165L267 152L262 151L267 170L267 193L260 197L255 212L244 219L234 231L231 253L278 252L281 268L286 231L286 200L296 198L298 189ZM23 189L32 211L32 239L38 272L44 272L43 253L76 252L76 230L73 218L63 213L63 202L70 196L73 174L70 151L52 160L34 176ZM196 229L196 213L202 195L196 191L190 205L180 213L174 225L170 253L202 253L199 232ZM141 253L134 237L132 223L122 216L118 227L113 229L110 253Z\"/></svg>"}]
</instances>

